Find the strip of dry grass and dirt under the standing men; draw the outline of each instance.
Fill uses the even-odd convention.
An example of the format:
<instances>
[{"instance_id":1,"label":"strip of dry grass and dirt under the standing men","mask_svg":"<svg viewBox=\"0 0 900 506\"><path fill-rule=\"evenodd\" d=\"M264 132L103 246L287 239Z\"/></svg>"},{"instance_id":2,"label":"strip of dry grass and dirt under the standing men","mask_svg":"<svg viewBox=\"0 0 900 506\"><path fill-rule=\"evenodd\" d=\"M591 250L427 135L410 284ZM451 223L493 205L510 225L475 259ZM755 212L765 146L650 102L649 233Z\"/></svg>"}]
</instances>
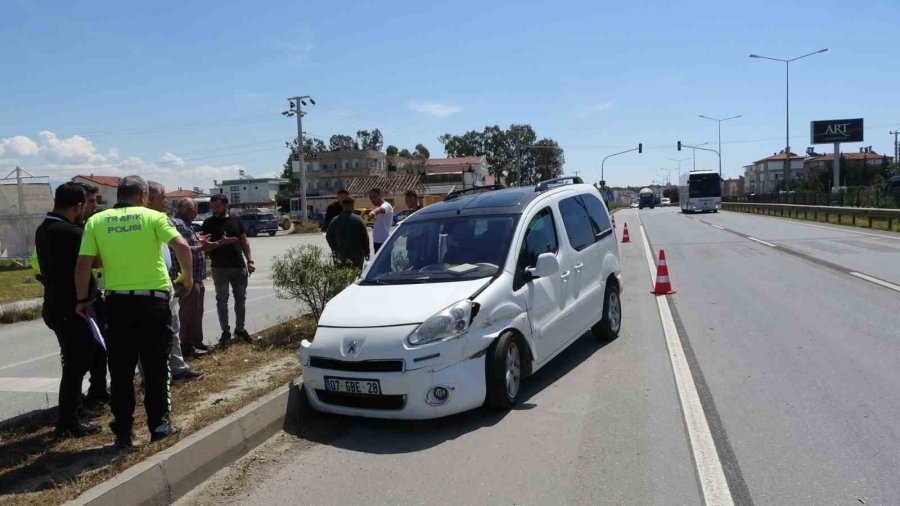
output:
<instances>
[{"instance_id":1,"label":"strip of dry grass and dirt under the standing men","mask_svg":"<svg viewBox=\"0 0 900 506\"><path fill-rule=\"evenodd\" d=\"M94 421L103 432L80 439L53 438L55 409L4 428L0 431L0 504L62 504L237 411L297 377L297 348L314 331L311 320L298 318L255 334L250 345L236 344L191 361L191 367L206 375L172 389L173 421L182 428L176 438L148 442L140 397L134 420L137 446L130 452L112 446L108 412Z\"/></svg>"}]
</instances>

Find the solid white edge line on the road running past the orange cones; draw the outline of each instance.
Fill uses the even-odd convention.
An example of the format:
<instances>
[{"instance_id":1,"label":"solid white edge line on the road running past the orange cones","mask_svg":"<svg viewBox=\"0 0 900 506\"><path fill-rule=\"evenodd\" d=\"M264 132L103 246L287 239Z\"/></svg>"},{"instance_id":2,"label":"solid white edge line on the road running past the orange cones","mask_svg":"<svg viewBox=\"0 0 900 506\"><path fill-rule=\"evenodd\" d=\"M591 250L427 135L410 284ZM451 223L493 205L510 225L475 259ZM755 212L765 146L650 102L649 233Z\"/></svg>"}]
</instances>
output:
<instances>
[{"instance_id":1,"label":"solid white edge line on the road running past the orange cones","mask_svg":"<svg viewBox=\"0 0 900 506\"><path fill-rule=\"evenodd\" d=\"M656 264L653 262L653 253L650 251L650 241L644 226L641 227L641 237L644 240L644 253L647 258L647 268L650 271L650 283L656 280ZM734 504L731 490L722 470L722 462L713 441L709 422L703 412L700 403L700 395L697 393L697 385L691 374L685 358L684 348L681 346L681 338L675 327L675 320L669 310L669 304L665 297L655 297L659 310L659 318L663 326L663 334L666 337L666 346L669 350L669 361L672 364L672 372L675 374L675 386L678 390L678 398L681 401L681 410L684 413L688 438L691 443L691 452L694 455L694 465L697 468L697 476L703 493L703 500L709 505Z\"/></svg>"}]
</instances>

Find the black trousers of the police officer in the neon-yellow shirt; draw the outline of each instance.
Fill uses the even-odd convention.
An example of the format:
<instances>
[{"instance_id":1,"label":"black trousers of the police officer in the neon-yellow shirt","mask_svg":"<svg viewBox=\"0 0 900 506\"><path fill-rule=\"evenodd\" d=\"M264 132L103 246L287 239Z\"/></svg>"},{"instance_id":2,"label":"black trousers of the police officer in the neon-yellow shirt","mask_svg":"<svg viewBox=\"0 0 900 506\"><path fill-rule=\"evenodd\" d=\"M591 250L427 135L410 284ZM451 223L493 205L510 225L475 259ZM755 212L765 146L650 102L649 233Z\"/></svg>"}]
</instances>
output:
<instances>
[{"instance_id":1,"label":"black trousers of the police officer in the neon-yellow shirt","mask_svg":"<svg viewBox=\"0 0 900 506\"><path fill-rule=\"evenodd\" d=\"M111 294L106 299L106 349L109 356L113 432L130 435L134 423L134 368L144 371L144 409L151 433L169 423L169 349L172 310L156 297Z\"/></svg>"}]
</instances>

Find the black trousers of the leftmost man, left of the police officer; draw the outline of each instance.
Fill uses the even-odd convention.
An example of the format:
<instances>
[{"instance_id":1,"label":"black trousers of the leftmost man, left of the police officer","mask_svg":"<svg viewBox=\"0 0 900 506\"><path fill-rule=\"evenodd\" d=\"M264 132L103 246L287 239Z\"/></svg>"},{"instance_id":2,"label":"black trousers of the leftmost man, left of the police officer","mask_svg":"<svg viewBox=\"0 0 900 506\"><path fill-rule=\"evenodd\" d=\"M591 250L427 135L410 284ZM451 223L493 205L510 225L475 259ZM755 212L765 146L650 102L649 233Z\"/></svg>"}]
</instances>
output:
<instances>
[{"instance_id":1,"label":"black trousers of the leftmost man, left of the police officer","mask_svg":"<svg viewBox=\"0 0 900 506\"><path fill-rule=\"evenodd\" d=\"M74 312L66 315L46 313L44 323L59 341L62 378L59 381L59 420L56 426L65 429L78 421L81 382L100 345L94 341L87 321Z\"/></svg>"}]
</instances>

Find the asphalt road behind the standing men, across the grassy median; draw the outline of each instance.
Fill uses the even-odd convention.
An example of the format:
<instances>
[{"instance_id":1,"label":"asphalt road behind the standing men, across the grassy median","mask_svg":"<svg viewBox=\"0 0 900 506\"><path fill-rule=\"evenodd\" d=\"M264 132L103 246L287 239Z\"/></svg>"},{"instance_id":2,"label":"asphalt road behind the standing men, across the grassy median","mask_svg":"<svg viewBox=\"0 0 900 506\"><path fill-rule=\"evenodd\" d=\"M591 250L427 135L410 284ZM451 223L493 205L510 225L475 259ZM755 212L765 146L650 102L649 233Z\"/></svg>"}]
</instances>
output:
<instances>
[{"instance_id":1,"label":"asphalt road behind the standing men, across the grassy median","mask_svg":"<svg viewBox=\"0 0 900 506\"><path fill-rule=\"evenodd\" d=\"M247 290L247 330L256 332L279 321L292 318L299 306L279 299L272 287L272 257L300 244L318 244L327 248L322 234L250 238L256 272L250 276ZM204 339L214 344L220 329L216 314L215 288L207 279ZM229 300L230 322L234 328L234 300ZM61 366L59 344L41 320L0 325L0 423L10 418L56 406Z\"/></svg>"}]
</instances>

